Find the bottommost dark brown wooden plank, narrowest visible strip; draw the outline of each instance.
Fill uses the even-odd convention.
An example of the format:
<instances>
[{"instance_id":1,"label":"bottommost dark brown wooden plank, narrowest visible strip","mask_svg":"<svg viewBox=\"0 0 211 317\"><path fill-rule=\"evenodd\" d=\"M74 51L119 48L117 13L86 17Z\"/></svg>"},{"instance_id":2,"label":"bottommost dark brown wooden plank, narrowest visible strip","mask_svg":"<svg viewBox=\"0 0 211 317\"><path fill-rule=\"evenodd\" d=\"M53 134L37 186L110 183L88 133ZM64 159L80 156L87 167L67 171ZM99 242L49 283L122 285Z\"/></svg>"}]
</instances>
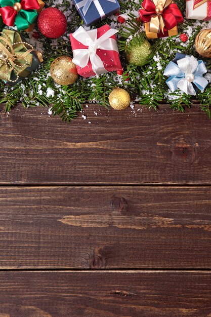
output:
<instances>
[{"instance_id":1,"label":"bottommost dark brown wooden plank, narrowest visible strip","mask_svg":"<svg viewBox=\"0 0 211 317\"><path fill-rule=\"evenodd\" d=\"M0 279L4 317L211 315L207 271L23 271Z\"/></svg>"}]
</instances>

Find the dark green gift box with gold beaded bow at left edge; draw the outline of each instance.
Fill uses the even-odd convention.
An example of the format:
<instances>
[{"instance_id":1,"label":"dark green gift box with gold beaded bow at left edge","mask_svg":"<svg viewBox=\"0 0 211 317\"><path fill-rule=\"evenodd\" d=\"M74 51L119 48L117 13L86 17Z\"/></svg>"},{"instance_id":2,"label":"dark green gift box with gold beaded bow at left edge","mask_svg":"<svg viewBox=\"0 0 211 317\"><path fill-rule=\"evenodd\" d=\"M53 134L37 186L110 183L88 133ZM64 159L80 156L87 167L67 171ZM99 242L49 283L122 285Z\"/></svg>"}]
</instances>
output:
<instances>
[{"instance_id":1,"label":"dark green gift box with gold beaded bow at left edge","mask_svg":"<svg viewBox=\"0 0 211 317\"><path fill-rule=\"evenodd\" d=\"M4 29L0 36L0 79L15 86L35 70L42 61L17 31Z\"/></svg>"}]
</instances>

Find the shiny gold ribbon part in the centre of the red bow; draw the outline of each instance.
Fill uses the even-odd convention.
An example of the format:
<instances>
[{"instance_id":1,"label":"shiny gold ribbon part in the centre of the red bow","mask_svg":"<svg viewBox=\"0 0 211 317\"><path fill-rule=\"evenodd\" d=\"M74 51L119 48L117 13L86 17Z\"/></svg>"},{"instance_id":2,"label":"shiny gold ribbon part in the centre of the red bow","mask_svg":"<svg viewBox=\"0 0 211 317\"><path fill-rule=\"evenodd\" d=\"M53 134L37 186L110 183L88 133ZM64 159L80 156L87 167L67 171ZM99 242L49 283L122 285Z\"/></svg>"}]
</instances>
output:
<instances>
[{"instance_id":1,"label":"shiny gold ribbon part in the centre of the red bow","mask_svg":"<svg viewBox=\"0 0 211 317\"><path fill-rule=\"evenodd\" d=\"M153 33L160 33L160 30L163 32L165 27L165 22L162 17L162 12L173 3L173 0L152 0L155 5L156 15L151 17L149 23L149 31Z\"/></svg>"}]
</instances>

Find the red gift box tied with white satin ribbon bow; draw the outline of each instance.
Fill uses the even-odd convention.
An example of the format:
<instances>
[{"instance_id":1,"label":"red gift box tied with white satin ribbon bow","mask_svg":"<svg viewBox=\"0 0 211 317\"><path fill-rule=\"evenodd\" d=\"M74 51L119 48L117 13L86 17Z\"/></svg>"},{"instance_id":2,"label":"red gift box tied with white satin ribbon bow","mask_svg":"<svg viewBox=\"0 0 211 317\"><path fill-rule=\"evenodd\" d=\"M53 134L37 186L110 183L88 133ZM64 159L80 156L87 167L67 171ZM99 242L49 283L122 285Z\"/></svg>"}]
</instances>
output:
<instances>
[{"instance_id":1,"label":"red gift box tied with white satin ribbon bow","mask_svg":"<svg viewBox=\"0 0 211 317\"><path fill-rule=\"evenodd\" d=\"M80 26L70 34L73 52L72 62L83 77L100 75L121 69L115 33L105 24L98 29L86 31Z\"/></svg>"}]
</instances>

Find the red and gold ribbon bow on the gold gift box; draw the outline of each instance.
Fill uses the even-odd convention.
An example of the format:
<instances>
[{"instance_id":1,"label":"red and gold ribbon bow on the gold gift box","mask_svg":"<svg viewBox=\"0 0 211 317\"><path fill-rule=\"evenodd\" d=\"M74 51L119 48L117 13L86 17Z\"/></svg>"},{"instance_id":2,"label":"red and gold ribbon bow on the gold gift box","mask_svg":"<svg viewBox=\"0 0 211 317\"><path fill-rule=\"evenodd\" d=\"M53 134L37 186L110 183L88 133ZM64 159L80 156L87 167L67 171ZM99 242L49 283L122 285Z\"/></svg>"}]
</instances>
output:
<instances>
[{"instance_id":1,"label":"red and gold ribbon bow on the gold gift box","mask_svg":"<svg viewBox=\"0 0 211 317\"><path fill-rule=\"evenodd\" d=\"M180 9L173 0L144 0L142 9L139 10L141 20L149 23L149 31L153 33L172 29L178 23L183 22Z\"/></svg>"}]
</instances>

